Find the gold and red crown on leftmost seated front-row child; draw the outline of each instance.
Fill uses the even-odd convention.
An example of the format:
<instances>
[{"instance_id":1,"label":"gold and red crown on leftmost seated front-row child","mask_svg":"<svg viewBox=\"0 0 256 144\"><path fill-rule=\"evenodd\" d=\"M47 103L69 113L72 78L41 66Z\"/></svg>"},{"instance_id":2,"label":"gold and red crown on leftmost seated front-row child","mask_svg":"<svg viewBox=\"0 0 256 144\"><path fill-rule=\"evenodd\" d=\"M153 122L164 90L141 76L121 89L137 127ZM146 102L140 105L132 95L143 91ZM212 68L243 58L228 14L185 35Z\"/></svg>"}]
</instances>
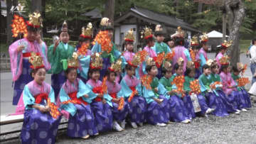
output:
<instances>
[{"instance_id":1,"label":"gold and red crown on leftmost seated front-row child","mask_svg":"<svg viewBox=\"0 0 256 144\"><path fill-rule=\"evenodd\" d=\"M33 70L44 67L43 58L40 55L36 55L35 52L31 52L31 56L28 58L28 62L31 63L31 68Z\"/></svg>"}]
</instances>

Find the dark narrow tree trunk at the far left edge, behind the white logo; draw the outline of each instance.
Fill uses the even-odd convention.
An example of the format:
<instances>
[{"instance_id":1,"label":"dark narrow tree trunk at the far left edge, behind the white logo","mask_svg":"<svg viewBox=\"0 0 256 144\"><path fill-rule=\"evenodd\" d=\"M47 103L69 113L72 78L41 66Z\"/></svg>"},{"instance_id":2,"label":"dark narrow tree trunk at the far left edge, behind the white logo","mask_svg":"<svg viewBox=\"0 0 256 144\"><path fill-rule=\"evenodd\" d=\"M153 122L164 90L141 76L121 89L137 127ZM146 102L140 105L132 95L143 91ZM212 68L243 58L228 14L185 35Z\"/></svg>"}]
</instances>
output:
<instances>
[{"instance_id":1,"label":"dark narrow tree trunk at the far left edge, behind the white logo","mask_svg":"<svg viewBox=\"0 0 256 144\"><path fill-rule=\"evenodd\" d=\"M11 20L14 18L14 13L10 12L11 6L18 6L18 1L17 0L9 0L6 1L6 12L7 12L7 21L6 21L6 26L7 26L7 41L6 43L10 45L12 43L12 33L11 33Z\"/></svg>"}]
</instances>

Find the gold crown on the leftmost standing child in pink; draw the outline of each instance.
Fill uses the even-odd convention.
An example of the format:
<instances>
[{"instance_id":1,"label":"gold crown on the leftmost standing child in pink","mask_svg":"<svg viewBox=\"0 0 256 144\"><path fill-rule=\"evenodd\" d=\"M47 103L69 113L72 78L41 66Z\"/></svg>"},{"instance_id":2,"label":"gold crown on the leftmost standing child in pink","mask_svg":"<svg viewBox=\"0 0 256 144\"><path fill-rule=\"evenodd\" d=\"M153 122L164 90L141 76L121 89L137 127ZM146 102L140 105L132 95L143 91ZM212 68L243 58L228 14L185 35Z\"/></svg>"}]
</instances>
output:
<instances>
[{"instance_id":1,"label":"gold crown on the leftmost standing child in pink","mask_svg":"<svg viewBox=\"0 0 256 144\"><path fill-rule=\"evenodd\" d=\"M41 14L38 12L31 13L29 16L29 20L27 21L28 26L33 28L43 27L43 19L41 18Z\"/></svg>"}]
</instances>

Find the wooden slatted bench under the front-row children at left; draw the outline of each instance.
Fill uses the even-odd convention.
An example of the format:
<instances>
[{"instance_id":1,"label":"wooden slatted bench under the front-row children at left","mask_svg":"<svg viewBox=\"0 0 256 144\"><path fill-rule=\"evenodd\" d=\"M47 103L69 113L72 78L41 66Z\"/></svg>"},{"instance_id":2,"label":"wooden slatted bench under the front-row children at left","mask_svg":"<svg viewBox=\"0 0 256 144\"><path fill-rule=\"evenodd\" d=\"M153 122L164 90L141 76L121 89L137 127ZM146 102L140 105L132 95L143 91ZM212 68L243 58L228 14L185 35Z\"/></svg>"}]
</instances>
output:
<instances>
[{"instance_id":1,"label":"wooden slatted bench under the front-row children at left","mask_svg":"<svg viewBox=\"0 0 256 144\"><path fill-rule=\"evenodd\" d=\"M5 115L5 116L1 116L0 117L0 126L4 126L4 125L9 125L9 124L14 124L14 123L22 123L24 119L24 115ZM65 118L61 118L60 120L60 124L59 124L59 128L58 131L63 131L67 129L67 126L64 126L64 124L68 123L68 120L65 120ZM60 128L60 125L62 128ZM7 132L0 132L0 136L3 135L10 135L13 133L20 133L21 130L16 130L16 131L7 131ZM0 142L4 142L4 141L8 141L8 140L14 140L14 139L18 139L19 135L15 135L15 136L8 136L9 138L4 138L4 139L0 139Z\"/></svg>"}]
</instances>

